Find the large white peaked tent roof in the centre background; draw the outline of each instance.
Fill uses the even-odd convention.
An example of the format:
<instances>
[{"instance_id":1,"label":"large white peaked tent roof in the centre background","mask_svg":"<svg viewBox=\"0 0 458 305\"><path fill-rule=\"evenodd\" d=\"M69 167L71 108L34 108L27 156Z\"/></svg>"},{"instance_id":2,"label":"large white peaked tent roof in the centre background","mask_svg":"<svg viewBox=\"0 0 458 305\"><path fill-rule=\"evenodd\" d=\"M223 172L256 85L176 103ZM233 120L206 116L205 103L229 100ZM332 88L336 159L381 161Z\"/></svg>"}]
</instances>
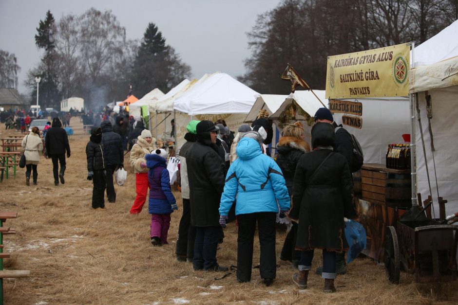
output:
<instances>
[{"instance_id":1,"label":"large white peaked tent roof in the centre background","mask_svg":"<svg viewBox=\"0 0 458 305\"><path fill-rule=\"evenodd\" d=\"M199 81L174 101L174 109L190 115L248 113L259 95L226 73Z\"/></svg>"}]
</instances>

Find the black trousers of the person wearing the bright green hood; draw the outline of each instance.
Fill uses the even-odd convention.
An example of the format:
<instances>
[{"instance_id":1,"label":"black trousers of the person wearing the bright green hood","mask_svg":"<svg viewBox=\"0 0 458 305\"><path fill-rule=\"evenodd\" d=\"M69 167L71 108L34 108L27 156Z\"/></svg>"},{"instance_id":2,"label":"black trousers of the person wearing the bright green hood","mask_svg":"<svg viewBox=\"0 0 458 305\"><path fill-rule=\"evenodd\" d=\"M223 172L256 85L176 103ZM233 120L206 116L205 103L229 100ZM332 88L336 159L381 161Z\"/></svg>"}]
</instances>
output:
<instances>
[{"instance_id":1,"label":"black trousers of the person wearing the bright green hood","mask_svg":"<svg viewBox=\"0 0 458 305\"><path fill-rule=\"evenodd\" d=\"M175 254L194 258L195 227L191 226L190 200L183 198L183 215L181 215L178 235L176 237Z\"/></svg>"}]
</instances>

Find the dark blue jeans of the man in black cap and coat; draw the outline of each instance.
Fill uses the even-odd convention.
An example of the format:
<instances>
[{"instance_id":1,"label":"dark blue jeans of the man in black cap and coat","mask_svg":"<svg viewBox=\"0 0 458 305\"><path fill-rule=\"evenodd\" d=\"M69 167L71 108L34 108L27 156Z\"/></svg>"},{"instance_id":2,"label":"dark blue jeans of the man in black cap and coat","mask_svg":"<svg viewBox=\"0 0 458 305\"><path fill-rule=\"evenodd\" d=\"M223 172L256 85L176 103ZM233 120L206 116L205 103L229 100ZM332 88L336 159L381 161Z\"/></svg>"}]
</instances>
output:
<instances>
[{"instance_id":1,"label":"dark blue jeans of the man in black cap and coat","mask_svg":"<svg viewBox=\"0 0 458 305\"><path fill-rule=\"evenodd\" d=\"M194 270L214 269L218 267L216 262L216 249L221 239L221 227L196 227L194 243Z\"/></svg>"}]
</instances>

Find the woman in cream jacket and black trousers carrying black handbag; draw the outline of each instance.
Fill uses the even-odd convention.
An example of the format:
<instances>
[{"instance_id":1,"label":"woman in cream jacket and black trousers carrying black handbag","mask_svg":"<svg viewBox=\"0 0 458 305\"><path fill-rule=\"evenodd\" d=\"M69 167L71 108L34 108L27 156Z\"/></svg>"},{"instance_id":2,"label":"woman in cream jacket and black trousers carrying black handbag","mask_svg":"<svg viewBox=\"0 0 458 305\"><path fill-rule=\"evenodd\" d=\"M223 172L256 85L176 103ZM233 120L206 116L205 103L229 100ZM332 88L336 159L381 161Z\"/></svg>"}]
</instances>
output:
<instances>
[{"instance_id":1,"label":"woman in cream jacket and black trousers carrying black handbag","mask_svg":"<svg viewBox=\"0 0 458 305\"><path fill-rule=\"evenodd\" d=\"M43 140L40 138L40 130L37 126L32 127L28 135L22 139L25 155L25 184L30 185L30 174L33 171L33 183L37 184L37 165L40 161L40 152L43 150Z\"/></svg>"}]
</instances>

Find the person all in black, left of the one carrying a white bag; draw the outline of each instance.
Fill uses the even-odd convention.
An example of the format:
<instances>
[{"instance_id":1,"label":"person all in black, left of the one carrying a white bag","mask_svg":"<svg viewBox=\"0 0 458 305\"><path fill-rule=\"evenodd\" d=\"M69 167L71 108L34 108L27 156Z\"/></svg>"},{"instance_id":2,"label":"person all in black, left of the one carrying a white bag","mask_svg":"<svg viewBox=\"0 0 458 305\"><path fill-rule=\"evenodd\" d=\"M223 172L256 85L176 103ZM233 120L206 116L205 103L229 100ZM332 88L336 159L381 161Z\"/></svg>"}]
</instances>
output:
<instances>
[{"instance_id":1,"label":"person all in black, left of the one carrying a white bag","mask_svg":"<svg viewBox=\"0 0 458 305\"><path fill-rule=\"evenodd\" d=\"M92 127L91 137L86 145L88 180L92 180L92 208L105 209L105 160L102 148L102 129Z\"/></svg>"}]
</instances>

